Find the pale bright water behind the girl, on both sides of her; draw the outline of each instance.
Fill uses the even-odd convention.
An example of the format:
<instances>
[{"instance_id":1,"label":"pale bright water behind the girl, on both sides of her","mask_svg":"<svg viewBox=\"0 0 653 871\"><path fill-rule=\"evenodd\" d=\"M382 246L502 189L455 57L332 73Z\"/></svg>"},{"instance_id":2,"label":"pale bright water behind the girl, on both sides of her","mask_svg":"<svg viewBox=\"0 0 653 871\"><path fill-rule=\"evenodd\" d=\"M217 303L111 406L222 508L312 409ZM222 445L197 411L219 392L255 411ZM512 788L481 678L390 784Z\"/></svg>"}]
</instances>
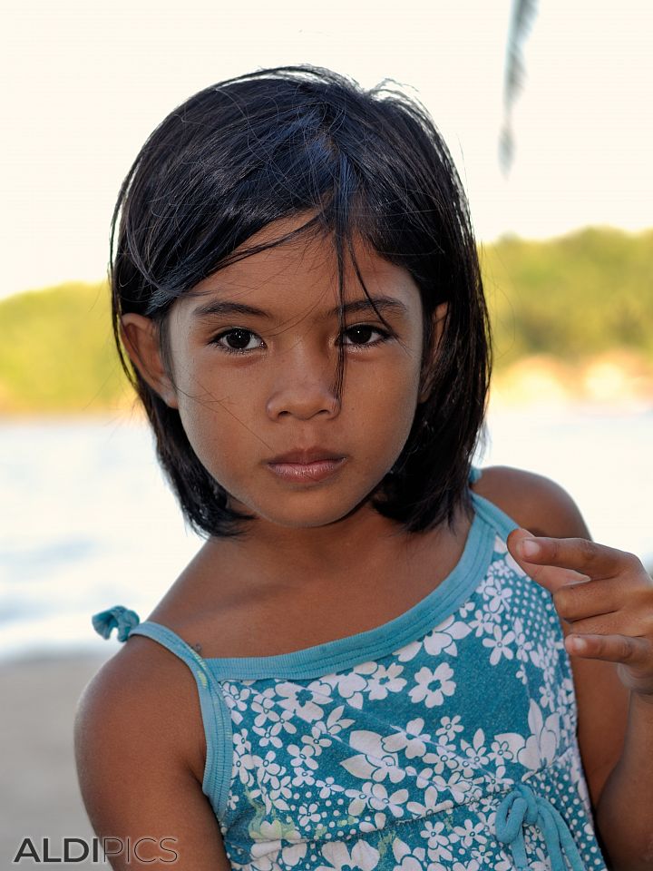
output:
<instances>
[{"instance_id":1,"label":"pale bright water behind the girl, on both sides of her","mask_svg":"<svg viewBox=\"0 0 653 871\"><path fill-rule=\"evenodd\" d=\"M597 541L653 563L653 411L491 414L482 465L548 475ZM91 615L144 617L200 547L142 423L124 418L0 425L0 657L115 650Z\"/></svg>"}]
</instances>

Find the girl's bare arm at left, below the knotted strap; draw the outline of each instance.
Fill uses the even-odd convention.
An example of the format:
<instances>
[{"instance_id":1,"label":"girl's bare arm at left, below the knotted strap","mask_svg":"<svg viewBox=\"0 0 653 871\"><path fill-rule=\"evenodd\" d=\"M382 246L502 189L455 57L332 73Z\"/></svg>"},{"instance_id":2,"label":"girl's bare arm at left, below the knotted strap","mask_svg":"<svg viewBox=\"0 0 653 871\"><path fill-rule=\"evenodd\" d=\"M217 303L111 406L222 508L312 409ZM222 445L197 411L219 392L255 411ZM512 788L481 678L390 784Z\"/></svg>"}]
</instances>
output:
<instances>
[{"instance_id":1,"label":"girl's bare arm at left, below the knotted strap","mask_svg":"<svg viewBox=\"0 0 653 871\"><path fill-rule=\"evenodd\" d=\"M201 791L205 744L192 677L154 647L132 639L84 690L75 721L84 805L114 871L230 871Z\"/></svg>"}]
</instances>

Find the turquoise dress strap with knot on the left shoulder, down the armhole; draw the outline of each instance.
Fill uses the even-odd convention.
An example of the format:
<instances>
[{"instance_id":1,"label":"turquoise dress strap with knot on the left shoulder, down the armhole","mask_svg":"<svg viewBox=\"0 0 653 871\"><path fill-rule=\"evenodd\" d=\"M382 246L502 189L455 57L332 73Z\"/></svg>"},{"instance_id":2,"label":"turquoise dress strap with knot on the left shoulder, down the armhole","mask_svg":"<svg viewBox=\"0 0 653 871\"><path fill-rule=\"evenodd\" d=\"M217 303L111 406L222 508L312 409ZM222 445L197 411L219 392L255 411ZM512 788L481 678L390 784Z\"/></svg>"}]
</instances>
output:
<instances>
[{"instance_id":1,"label":"turquoise dress strap with knot on the left shoulder, down the armhole","mask_svg":"<svg viewBox=\"0 0 653 871\"><path fill-rule=\"evenodd\" d=\"M144 635L157 641L189 667L197 683L207 745L202 791L210 798L219 820L224 819L233 759L231 716L219 680L211 672L207 661L176 632L151 620L141 623L138 614L123 605L115 605L107 611L94 614L93 628L103 638L109 638L112 630L117 629L118 641L128 641L133 635Z\"/></svg>"}]
</instances>

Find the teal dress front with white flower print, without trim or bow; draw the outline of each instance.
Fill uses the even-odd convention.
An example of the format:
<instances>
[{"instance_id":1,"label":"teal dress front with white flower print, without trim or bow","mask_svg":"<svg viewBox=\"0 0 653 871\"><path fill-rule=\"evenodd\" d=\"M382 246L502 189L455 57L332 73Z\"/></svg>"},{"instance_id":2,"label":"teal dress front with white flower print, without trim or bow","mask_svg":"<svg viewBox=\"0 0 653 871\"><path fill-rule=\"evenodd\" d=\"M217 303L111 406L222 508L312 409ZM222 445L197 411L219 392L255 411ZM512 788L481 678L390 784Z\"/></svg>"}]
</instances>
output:
<instances>
[{"instance_id":1,"label":"teal dress front with white flower print, without trim or bow","mask_svg":"<svg viewBox=\"0 0 653 871\"><path fill-rule=\"evenodd\" d=\"M501 537L453 612L364 655L307 678L220 680L236 871L513 871L495 820L521 782L605 871L560 621ZM523 835L531 871L550 871L539 830Z\"/></svg>"}]
</instances>

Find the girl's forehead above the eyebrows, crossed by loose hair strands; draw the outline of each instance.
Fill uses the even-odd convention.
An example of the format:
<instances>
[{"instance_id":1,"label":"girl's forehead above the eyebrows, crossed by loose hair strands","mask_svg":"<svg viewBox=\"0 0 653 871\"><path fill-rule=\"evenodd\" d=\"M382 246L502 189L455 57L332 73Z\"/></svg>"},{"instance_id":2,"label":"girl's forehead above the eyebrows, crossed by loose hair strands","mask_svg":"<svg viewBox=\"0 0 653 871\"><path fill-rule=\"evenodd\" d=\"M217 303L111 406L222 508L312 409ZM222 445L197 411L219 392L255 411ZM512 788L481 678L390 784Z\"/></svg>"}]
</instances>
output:
<instances>
[{"instance_id":1,"label":"girl's forehead above the eyebrows, crossed by loose hair strands","mask_svg":"<svg viewBox=\"0 0 653 871\"><path fill-rule=\"evenodd\" d=\"M243 247L268 244L305 223L306 218L276 221ZM344 248L343 301L365 298L362 279L372 298L391 296L403 303L408 313L421 314L419 290L407 269L381 257L360 237L353 240L356 264L346 245ZM281 318L298 310L310 310L316 317L332 315L340 300L333 237L301 234L258 251L203 279L179 303L183 313L192 316L213 300L265 308Z\"/></svg>"}]
</instances>

